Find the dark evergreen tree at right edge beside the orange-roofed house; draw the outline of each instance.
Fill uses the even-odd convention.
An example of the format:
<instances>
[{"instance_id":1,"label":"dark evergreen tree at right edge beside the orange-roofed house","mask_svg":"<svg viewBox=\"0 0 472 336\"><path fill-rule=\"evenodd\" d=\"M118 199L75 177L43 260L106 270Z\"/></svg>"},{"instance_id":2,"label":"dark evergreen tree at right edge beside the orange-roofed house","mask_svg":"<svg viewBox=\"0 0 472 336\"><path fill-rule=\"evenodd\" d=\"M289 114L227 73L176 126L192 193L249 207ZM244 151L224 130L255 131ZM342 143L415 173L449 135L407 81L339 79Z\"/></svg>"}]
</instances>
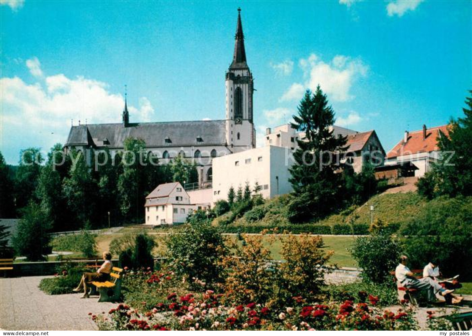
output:
<instances>
[{"instance_id":1,"label":"dark evergreen tree at right edge beside the orange-roofed house","mask_svg":"<svg viewBox=\"0 0 472 336\"><path fill-rule=\"evenodd\" d=\"M433 169L439 195L472 196L472 97L465 104L465 116L451 121L449 137L441 133L438 138L445 159Z\"/></svg>"}]
</instances>

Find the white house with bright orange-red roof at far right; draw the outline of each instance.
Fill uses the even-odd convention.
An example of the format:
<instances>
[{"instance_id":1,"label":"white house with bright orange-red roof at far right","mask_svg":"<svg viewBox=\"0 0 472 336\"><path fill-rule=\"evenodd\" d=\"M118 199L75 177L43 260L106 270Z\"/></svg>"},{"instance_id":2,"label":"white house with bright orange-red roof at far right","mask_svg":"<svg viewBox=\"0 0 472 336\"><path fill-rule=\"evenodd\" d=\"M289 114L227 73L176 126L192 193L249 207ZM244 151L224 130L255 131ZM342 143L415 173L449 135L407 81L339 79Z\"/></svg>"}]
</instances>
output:
<instances>
[{"instance_id":1,"label":"white house with bright orange-red roof at far right","mask_svg":"<svg viewBox=\"0 0 472 336\"><path fill-rule=\"evenodd\" d=\"M410 162L418 168L414 176L422 177L431 170L432 163L447 159L442 156L438 147L438 138L444 136L449 136L448 125L430 129L423 125L420 131L405 131L403 139L388 152L385 165Z\"/></svg>"}]
</instances>

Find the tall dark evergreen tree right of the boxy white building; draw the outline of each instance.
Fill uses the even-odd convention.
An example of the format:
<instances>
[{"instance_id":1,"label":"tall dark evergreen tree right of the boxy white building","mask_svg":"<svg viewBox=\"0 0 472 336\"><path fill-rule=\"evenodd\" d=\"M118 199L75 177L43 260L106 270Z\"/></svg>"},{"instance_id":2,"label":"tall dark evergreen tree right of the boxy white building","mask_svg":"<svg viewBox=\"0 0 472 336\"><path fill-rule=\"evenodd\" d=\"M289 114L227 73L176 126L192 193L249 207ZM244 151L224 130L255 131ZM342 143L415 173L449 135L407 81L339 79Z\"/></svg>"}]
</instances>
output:
<instances>
[{"instance_id":1,"label":"tall dark evergreen tree right of the boxy white building","mask_svg":"<svg viewBox=\"0 0 472 336\"><path fill-rule=\"evenodd\" d=\"M346 137L335 137L330 130L335 122L334 111L320 86L312 94L305 92L294 115L292 127L305 133L297 139L295 164L290 168L295 197L289 204L289 219L303 222L320 219L330 213L342 198L341 174L337 153L346 151Z\"/></svg>"}]
</instances>

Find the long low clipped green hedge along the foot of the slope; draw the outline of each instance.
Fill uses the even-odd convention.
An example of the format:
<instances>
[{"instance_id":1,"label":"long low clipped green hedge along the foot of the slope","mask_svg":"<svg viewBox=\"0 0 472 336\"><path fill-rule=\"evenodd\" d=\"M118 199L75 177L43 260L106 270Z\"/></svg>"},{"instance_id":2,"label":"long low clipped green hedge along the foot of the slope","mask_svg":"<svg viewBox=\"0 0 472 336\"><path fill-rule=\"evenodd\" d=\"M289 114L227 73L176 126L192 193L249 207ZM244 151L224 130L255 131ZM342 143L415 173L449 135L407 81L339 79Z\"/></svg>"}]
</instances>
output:
<instances>
[{"instance_id":1,"label":"long low clipped green hedge along the foot of the slope","mask_svg":"<svg viewBox=\"0 0 472 336\"><path fill-rule=\"evenodd\" d=\"M369 234L368 224L294 224L294 225L228 225L222 228L225 233L259 233L262 230L272 230L277 228L279 232L289 231L291 233L312 233L315 235L367 235Z\"/></svg>"}]
</instances>

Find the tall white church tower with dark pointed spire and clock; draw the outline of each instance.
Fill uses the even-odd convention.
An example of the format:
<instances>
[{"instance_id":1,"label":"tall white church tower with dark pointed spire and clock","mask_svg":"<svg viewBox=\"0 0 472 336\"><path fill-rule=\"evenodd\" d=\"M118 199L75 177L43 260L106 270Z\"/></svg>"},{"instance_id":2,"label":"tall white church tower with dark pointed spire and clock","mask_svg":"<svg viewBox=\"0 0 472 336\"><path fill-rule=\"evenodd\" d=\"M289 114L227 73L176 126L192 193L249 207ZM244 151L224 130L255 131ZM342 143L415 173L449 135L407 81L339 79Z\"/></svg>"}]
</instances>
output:
<instances>
[{"instance_id":1,"label":"tall white church tower with dark pointed spire and clock","mask_svg":"<svg viewBox=\"0 0 472 336\"><path fill-rule=\"evenodd\" d=\"M233 152L255 148L253 75L246 63L241 8L238 8L233 62L226 72L226 142Z\"/></svg>"}]
</instances>

